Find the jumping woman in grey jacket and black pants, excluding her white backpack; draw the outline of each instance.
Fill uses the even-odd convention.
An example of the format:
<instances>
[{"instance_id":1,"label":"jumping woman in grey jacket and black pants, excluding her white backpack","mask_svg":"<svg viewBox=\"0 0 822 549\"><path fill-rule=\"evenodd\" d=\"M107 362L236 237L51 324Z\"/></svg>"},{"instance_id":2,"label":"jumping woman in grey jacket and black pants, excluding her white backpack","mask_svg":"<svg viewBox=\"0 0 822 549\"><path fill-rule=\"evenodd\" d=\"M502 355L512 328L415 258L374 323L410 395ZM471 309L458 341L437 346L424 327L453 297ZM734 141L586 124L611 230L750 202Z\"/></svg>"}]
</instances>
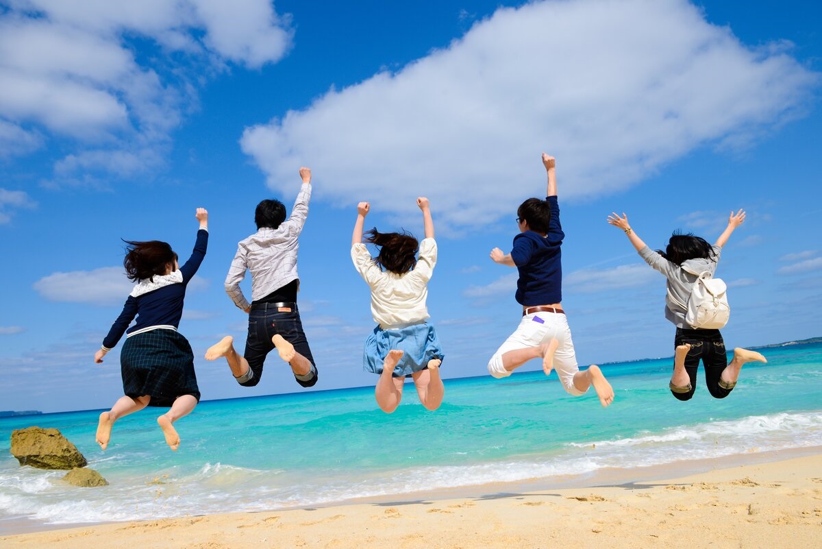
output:
<instances>
[{"instance_id":1,"label":"jumping woman in grey jacket and black pants, excluding her white backpack","mask_svg":"<svg viewBox=\"0 0 822 549\"><path fill-rule=\"evenodd\" d=\"M681 303L687 303L690 290L699 274L708 271L712 276L716 271L722 247L730 238L734 229L745 221L745 212L731 212L727 227L713 247L704 238L693 234L674 233L666 250L653 251L630 228L628 216L617 213L608 216L608 223L625 231L630 243L640 252L640 256L653 269L667 278L667 298L665 300L665 318L677 326L674 336L676 354L673 376L668 385L671 393L679 400L690 400L696 390L696 369L700 358L705 370L705 384L711 396L724 399L737 385L739 371L746 362L768 362L755 351L744 348L733 349L733 359L727 362L725 342L722 334L716 329L694 328L686 323L686 310Z\"/></svg>"}]
</instances>

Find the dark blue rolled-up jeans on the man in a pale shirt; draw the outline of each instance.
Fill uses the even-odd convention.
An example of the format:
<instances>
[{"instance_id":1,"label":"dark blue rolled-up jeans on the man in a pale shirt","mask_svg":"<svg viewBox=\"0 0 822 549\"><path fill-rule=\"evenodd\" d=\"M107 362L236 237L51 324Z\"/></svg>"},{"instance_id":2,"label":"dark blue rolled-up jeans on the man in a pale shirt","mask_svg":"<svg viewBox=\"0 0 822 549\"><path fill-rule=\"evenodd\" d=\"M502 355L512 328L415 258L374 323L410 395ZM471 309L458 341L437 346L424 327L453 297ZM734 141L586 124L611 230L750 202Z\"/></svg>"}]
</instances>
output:
<instances>
[{"instance_id":1,"label":"dark blue rolled-up jeans on the man in a pale shirt","mask_svg":"<svg viewBox=\"0 0 822 549\"><path fill-rule=\"evenodd\" d=\"M242 356L248 361L252 376L245 381L238 380L240 385L253 387L260 382L266 356L275 348L271 338L276 334L283 336L283 339L294 346L294 350L307 358L308 362L311 362L311 371L305 376L295 374L294 379L303 387L311 387L316 384L316 364L312 357L311 348L308 347L306 334L302 331L302 321L300 321L300 313L296 303L290 312L280 312L277 311L277 307L272 307L270 303L260 303L252 305L252 310L248 313L248 337L246 338L245 353L242 353Z\"/></svg>"}]
</instances>

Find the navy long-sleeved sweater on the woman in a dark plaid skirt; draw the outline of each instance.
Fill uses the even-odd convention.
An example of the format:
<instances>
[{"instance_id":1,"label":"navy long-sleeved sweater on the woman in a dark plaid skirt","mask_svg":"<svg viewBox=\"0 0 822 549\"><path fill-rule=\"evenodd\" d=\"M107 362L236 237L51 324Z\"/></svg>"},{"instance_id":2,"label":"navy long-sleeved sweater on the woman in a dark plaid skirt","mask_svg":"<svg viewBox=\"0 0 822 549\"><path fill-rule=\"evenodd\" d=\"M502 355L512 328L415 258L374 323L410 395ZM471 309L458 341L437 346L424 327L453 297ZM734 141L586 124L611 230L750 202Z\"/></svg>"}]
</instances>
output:
<instances>
[{"instance_id":1,"label":"navy long-sleeved sweater on the woman in a dark plaid skirt","mask_svg":"<svg viewBox=\"0 0 822 549\"><path fill-rule=\"evenodd\" d=\"M180 267L182 282L168 284L162 288L143 293L136 298L132 295L128 296L120 316L114 321L109 334L103 339L103 347L113 348L122 338L122 334L135 316L137 321L135 325L128 329L129 334L150 326L171 325L177 328L180 325L182 302L186 297L188 282L196 274L197 269L200 268L207 247L208 231L200 229L197 231L197 240L194 244L192 256L188 258L185 265Z\"/></svg>"}]
</instances>

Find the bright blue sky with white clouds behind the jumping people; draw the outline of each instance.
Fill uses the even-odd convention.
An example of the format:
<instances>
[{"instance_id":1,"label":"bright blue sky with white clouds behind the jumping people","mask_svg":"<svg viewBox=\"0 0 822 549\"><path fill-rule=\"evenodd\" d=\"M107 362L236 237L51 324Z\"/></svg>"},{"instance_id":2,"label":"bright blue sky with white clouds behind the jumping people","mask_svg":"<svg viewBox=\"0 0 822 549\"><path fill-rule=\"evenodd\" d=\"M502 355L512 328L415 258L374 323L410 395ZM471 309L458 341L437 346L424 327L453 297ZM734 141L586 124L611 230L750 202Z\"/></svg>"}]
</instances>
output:
<instances>
[{"instance_id":1,"label":"bright blue sky with white clouds behind the jumping people","mask_svg":"<svg viewBox=\"0 0 822 549\"><path fill-rule=\"evenodd\" d=\"M612 211L663 247L677 228L713 240L745 208L718 270L727 344L820 335L817 2L405 3L0 0L0 409L122 394L122 342L92 362L129 291L120 238L185 257L197 206L209 252L180 331L204 398L298 390L273 357L252 390L201 357L226 334L242 345L223 280L256 203L290 211L301 165L316 390L376 381L349 258L358 201L372 202L367 225L421 235L414 199L431 199L443 375L487 373L519 316L515 270L488 251L510 249L516 205L543 196L543 151L580 364L672 354L664 279Z\"/></svg>"}]
</instances>

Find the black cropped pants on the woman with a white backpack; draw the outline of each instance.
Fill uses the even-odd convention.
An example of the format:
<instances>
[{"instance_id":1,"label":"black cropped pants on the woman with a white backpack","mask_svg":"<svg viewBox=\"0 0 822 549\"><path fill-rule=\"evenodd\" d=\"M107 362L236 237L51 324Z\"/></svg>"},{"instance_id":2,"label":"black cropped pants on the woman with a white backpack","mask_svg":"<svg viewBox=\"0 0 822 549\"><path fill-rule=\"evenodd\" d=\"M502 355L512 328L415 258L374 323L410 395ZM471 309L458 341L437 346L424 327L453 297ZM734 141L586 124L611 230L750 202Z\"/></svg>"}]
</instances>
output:
<instances>
[{"instance_id":1,"label":"black cropped pants on the woman with a white backpack","mask_svg":"<svg viewBox=\"0 0 822 549\"><path fill-rule=\"evenodd\" d=\"M690 351L685 358L685 369L690 377L690 391L687 393L677 393L671 391L677 399L690 400L696 390L696 370L700 366L705 370L705 385L714 399L724 399L731 394L731 389L725 389L719 385L722 372L727 367L727 354L725 353L725 342L719 330L690 330L677 328L677 334L673 339L674 352L679 345L690 344Z\"/></svg>"}]
</instances>

